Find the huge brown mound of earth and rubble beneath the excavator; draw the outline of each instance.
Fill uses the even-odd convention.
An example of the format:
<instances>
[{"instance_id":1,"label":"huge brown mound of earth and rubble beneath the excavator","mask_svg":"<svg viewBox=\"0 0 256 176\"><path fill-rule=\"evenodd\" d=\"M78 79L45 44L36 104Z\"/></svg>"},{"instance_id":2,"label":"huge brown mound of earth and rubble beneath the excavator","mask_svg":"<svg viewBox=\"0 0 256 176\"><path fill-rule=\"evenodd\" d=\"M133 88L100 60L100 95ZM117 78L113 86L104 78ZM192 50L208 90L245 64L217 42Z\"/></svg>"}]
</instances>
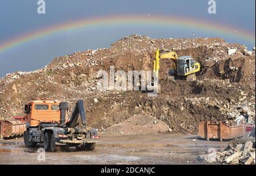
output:
<instances>
[{"instance_id":1,"label":"huge brown mound of earth and rubble beneath the excavator","mask_svg":"<svg viewBox=\"0 0 256 176\"><path fill-rule=\"evenodd\" d=\"M110 66L126 73L152 70L157 48L172 48L179 56L191 55L199 61L201 71L197 81L168 80L172 62L161 60L162 93L157 97L148 97L143 91L97 90L99 70L109 72ZM229 56L229 48L237 52ZM231 112L234 119L245 115L255 120L255 53L247 56L245 49L219 38L127 36L110 48L56 57L34 72L7 74L0 79L0 118L22 115L24 104L30 100L53 98L67 101L69 110L77 99L84 99L88 124L101 131L114 124L126 125L127 119L135 114L142 115L146 121L146 114L150 114L167 124L173 133L197 133L200 121L225 120Z\"/></svg>"}]
</instances>

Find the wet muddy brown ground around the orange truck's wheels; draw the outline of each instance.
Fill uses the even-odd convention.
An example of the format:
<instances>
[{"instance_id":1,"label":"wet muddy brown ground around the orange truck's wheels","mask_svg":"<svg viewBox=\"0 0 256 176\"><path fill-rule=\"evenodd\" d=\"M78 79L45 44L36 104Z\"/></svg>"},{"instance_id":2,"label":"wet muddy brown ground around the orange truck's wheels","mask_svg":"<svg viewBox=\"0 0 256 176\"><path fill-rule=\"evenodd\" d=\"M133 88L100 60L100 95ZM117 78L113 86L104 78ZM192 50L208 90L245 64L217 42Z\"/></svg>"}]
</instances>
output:
<instances>
[{"instance_id":1,"label":"wet muddy brown ground around the orange truck's wheels","mask_svg":"<svg viewBox=\"0 0 256 176\"><path fill-rule=\"evenodd\" d=\"M202 164L200 154L209 148L224 149L228 141L205 141L196 135L151 134L135 136L101 135L101 143L92 152L75 148L46 153L38 161L38 149L26 148L23 138L0 141L0 164Z\"/></svg>"}]
</instances>

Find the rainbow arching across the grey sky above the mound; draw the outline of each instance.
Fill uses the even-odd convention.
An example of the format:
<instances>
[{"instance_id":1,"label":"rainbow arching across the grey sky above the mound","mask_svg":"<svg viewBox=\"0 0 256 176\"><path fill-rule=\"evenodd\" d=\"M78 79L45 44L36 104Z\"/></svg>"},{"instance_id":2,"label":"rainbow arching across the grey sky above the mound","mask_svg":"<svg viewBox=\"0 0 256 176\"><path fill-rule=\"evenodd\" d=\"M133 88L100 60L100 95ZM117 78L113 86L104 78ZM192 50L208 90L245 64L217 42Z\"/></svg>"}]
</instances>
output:
<instances>
[{"instance_id":1,"label":"rainbow arching across the grey sky above the mound","mask_svg":"<svg viewBox=\"0 0 256 176\"><path fill-rule=\"evenodd\" d=\"M195 28L205 32L212 32L215 35L237 37L255 43L255 32L238 29L237 27L228 26L227 24L212 23L202 19L184 18L182 16L166 15L109 15L98 16L94 18L79 19L72 22L56 24L55 26L42 28L38 31L23 33L18 37L0 43L0 53L11 48L26 44L36 39L54 35L55 33L78 30L79 28L93 27L118 27L118 26L141 26L150 25L154 27L179 27Z\"/></svg>"}]
</instances>

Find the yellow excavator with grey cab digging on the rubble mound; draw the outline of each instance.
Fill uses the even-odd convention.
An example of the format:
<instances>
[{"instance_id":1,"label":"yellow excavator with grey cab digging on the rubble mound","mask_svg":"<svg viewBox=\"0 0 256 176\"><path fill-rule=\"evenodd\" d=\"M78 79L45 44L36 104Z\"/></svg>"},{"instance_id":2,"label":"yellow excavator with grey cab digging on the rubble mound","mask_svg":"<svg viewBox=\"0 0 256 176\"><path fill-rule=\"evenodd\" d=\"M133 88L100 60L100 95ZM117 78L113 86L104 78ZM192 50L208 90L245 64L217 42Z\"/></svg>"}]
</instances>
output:
<instances>
[{"instance_id":1,"label":"yellow excavator with grey cab digging on the rubble mound","mask_svg":"<svg viewBox=\"0 0 256 176\"><path fill-rule=\"evenodd\" d=\"M196 81L196 72L200 71L200 64L191 56L177 56L173 50L157 49L154 58L154 82L158 81L158 73L160 69L160 59L171 59L173 61L172 78L185 78L187 81ZM160 86L158 86L158 92Z\"/></svg>"}]
</instances>

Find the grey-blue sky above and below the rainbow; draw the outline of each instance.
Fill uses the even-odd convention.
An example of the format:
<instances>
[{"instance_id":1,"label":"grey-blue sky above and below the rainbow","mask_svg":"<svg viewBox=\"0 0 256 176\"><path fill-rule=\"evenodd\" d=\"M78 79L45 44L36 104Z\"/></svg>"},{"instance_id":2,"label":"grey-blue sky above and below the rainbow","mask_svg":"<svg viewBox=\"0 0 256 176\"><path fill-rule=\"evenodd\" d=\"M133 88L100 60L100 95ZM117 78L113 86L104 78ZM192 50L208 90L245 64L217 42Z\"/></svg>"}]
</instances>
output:
<instances>
[{"instance_id":1,"label":"grey-blue sky above and below the rainbow","mask_svg":"<svg viewBox=\"0 0 256 176\"><path fill-rule=\"evenodd\" d=\"M255 32L255 0L216 0L217 13L208 14L208 0L45 0L46 14L37 13L38 0L0 0L0 45L23 33L93 16L120 14L156 14L204 19L208 22L228 24ZM195 32L195 36L192 33ZM99 26L60 32L42 37L0 52L0 77L18 70L30 71L42 68L54 57L110 47L121 37L138 33L155 38L217 37L213 32L195 31L192 28L156 26ZM251 49L254 41L223 37L230 43L240 43Z\"/></svg>"}]
</instances>

